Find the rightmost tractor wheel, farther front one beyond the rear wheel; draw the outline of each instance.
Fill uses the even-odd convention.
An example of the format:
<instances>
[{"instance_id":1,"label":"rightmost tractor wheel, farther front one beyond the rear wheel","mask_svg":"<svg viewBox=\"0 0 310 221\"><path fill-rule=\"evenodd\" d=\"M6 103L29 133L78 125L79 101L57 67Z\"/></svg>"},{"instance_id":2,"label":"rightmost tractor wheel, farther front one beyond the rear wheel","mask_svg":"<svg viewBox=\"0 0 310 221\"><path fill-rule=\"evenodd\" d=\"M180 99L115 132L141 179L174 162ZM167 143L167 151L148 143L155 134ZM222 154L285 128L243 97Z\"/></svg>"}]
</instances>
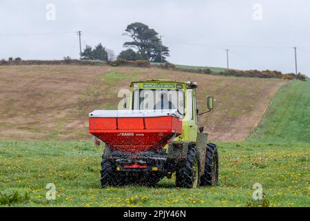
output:
<instances>
[{"instance_id":1,"label":"rightmost tractor wheel, farther front one beyond the rear wheel","mask_svg":"<svg viewBox=\"0 0 310 221\"><path fill-rule=\"evenodd\" d=\"M200 179L201 186L216 186L218 184L218 148L216 144L207 144L205 155L205 174Z\"/></svg>"}]
</instances>

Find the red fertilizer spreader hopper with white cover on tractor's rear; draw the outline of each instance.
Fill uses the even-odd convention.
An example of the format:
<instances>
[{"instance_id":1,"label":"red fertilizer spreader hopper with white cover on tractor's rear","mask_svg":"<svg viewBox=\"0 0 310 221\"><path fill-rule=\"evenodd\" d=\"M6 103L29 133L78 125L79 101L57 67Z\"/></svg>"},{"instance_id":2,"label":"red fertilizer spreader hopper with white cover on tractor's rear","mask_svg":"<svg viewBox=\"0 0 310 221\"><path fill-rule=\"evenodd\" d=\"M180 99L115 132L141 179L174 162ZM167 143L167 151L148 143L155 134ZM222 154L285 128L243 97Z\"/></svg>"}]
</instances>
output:
<instances>
[{"instance_id":1,"label":"red fertilizer spreader hopper with white cover on tractor's rear","mask_svg":"<svg viewBox=\"0 0 310 221\"><path fill-rule=\"evenodd\" d=\"M154 151L182 133L181 115L176 110L93 111L90 133L112 150Z\"/></svg>"}]
</instances>

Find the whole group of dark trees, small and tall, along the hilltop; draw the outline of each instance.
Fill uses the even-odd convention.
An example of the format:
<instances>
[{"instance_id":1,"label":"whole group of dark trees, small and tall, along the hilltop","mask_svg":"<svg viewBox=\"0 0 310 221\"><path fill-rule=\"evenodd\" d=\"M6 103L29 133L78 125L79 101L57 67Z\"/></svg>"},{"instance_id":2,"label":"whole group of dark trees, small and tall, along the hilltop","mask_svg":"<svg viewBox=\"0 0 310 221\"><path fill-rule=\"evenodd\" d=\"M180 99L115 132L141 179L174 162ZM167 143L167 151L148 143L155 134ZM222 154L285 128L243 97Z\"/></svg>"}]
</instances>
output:
<instances>
[{"instance_id":1,"label":"whole group of dark trees, small and tall, along the hilltop","mask_svg":"<svg viewBox=\"0 0 310 221\"><path fill-rule=\"evenodd\" d=\"M125 59L127 61L151 61L166 62L169 57L169 48L164 46L158 37L158 32L144 23L131 23L125 29L125 34L132 39L123 44L126 50L123 50L117 57L113 50L107 49L99 44L92 48L85 46L81 53L82 60L100 60L111 62L115 59Z\"/></svg>"}]
</instances>

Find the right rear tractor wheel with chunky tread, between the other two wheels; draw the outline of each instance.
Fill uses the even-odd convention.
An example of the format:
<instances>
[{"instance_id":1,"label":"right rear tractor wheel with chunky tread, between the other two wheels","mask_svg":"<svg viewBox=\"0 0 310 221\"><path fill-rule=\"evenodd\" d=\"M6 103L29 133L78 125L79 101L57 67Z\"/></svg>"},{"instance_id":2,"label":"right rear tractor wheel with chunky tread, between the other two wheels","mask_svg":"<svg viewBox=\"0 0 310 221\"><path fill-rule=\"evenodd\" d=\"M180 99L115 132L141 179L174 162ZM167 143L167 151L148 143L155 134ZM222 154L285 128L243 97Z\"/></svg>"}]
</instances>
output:
<instances>
[{"instance_id":1,"label":"right rear tractor wheel with chunky tread, between the other two wheels","mask_svg":"<svg viewBox=\"0 0 310 221\"><path fill-rule=\"evenodd\" d=\"M176 186L180 188L196 188L200 184L200 162L198 151L189 147L187 159L176 168Z\"/></svg>"}]
</instances>

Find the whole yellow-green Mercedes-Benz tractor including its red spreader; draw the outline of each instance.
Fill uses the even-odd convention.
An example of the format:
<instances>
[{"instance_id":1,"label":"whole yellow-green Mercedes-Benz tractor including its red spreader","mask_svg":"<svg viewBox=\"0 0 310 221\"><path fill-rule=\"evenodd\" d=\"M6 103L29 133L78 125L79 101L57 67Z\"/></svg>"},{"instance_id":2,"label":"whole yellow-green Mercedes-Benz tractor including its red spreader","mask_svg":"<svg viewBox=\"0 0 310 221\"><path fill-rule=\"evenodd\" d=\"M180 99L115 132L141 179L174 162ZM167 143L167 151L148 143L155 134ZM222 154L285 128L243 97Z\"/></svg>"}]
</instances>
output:
<instances>
[{"instance_id":1,"label":"whole yellow-green Mercedes-Benz tractor including its red spreader","mask_svg":"<svg viewBox=\"0 0 310 221\"><path fill-rule=\"evenodd\" d=\"M198 115L196 82L134 81L117 111L93 111L89 130L105 144L101 186L154 186L175 174L178 188L218 184L218 148L208 142Z\"/></svg>"}]
</instances>

